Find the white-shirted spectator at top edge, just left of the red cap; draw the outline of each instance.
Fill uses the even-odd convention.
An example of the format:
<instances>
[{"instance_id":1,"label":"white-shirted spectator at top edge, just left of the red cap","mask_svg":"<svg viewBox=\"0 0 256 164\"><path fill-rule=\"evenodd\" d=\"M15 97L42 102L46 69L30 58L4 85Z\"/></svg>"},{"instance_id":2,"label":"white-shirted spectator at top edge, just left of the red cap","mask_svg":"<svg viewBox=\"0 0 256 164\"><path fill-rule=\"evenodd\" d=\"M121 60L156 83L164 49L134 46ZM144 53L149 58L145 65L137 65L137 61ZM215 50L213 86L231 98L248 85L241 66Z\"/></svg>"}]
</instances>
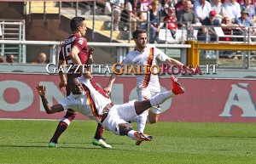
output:
<instances>
[{"instance_id":1,"label":"white-shirted spectator at top edge, just left of the red cap","mask_svg":"<svg viewBox=\"0 0 256 164\"><path fill-rule=\"evenodd\" d=\"M195 11L196 18L202 23L208 17L212 7L206 0L197 0L194 3L193 10Z\"/></svg>"}]
</instances>

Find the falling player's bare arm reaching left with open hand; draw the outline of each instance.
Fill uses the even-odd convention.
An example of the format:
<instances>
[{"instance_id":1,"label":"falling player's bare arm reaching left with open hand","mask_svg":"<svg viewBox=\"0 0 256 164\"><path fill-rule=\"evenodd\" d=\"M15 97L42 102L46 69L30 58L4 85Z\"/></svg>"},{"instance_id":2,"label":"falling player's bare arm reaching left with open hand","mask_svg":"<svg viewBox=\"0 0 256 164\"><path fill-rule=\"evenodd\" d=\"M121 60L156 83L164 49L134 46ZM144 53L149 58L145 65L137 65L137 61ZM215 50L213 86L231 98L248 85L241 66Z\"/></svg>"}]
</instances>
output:
<instances>
[{"instance_id":1,"label":"falling player's bare arm reaching left with open hand","mask_svg":"<svg viewBox=\"0 0 256 164\"><path fill-rule=\"evenodd\" d=\"M44 110L46 111L47 114L52 114L52 113L56 113L64 110L61 104L53 105L53 106L49 105L48 100L46 99L46 96L45 96L46 87L44 85L42 86L38 85L36 88L38 90L39 96L42 99Z\"/></svg>"}]
</instances>

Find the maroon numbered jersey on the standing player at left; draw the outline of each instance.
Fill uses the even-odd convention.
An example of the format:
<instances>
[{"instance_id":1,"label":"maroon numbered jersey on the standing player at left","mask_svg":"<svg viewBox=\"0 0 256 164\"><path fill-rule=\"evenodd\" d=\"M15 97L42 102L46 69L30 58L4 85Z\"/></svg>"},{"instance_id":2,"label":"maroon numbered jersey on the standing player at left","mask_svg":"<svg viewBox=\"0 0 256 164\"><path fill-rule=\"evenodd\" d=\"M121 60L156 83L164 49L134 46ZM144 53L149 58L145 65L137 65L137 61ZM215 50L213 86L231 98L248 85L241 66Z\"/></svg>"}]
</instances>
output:
<instances>
[{"instance_id":1,"label":"maroon numbered jersey on the standing player at left","mask_svg":"<svg viewBox=\"0 0 256 164\"><path fill-rule=\"evenodd\" d=\"M65 42L62 43L61 51L59 53L59 59L66 60L67 65L73 65L73 61L72 59L70 59L69 56L69 53L73 46L79 48L79 59L81 60L82 65L85 65L88 59L87 39L85 37L80 37L78 34L72 34L70 37L67 38ZM76 67L74 66L73 69L71 69L67 74L67 77L81 76L80 71L77 71L79 73L73 73L73 71L76 71Z\"/></svg>"}]
</instances>

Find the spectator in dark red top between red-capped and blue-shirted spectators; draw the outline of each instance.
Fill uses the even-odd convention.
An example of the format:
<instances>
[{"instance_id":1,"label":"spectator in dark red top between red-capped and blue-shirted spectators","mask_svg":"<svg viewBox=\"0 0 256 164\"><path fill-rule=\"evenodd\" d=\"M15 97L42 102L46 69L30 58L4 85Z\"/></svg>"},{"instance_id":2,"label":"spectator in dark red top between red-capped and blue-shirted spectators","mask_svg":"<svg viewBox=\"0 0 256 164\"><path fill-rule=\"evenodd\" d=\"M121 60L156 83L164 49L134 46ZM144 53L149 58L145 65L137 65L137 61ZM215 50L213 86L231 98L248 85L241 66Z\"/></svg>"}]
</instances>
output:
<instances>
[{"instance_id":1,"label":"spectator in dark red top between red-capped and blue-shirted spectators","mask_svg":"<svg viewBox=\"0 0 256 164\"><path fill-rule=\"evenodd\" d=\"M224 16L223 23L221 24L224 35L233 35L233 31L236 30L236 24L232 24L229 16ZM234 37L219 37L219 41L236 41Z\"/></svg>"}]
</instances>

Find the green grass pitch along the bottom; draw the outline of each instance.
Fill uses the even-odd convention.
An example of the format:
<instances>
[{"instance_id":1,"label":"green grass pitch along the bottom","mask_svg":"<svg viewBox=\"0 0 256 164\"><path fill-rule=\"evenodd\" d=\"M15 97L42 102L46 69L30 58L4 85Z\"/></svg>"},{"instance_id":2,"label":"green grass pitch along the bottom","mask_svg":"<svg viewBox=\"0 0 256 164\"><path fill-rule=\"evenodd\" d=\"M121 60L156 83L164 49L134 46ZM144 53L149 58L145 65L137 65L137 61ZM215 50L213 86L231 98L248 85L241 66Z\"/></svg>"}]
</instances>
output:
<instances>
[{"instance_id":1,"label":"green grass pitch along the bottom","mask_svg":"<svg viewBox=\"0 0 256 164\"><path fill-rule=\"evenodd\" d=\"M152 142L136 146L128 137L105 131L112 150L91 144L96 122L74 121L59 139L47 144L57 121L0 121L0 163L256 163L253 123L158 122L145 133Z\"/></svg>"}]
</instances>

